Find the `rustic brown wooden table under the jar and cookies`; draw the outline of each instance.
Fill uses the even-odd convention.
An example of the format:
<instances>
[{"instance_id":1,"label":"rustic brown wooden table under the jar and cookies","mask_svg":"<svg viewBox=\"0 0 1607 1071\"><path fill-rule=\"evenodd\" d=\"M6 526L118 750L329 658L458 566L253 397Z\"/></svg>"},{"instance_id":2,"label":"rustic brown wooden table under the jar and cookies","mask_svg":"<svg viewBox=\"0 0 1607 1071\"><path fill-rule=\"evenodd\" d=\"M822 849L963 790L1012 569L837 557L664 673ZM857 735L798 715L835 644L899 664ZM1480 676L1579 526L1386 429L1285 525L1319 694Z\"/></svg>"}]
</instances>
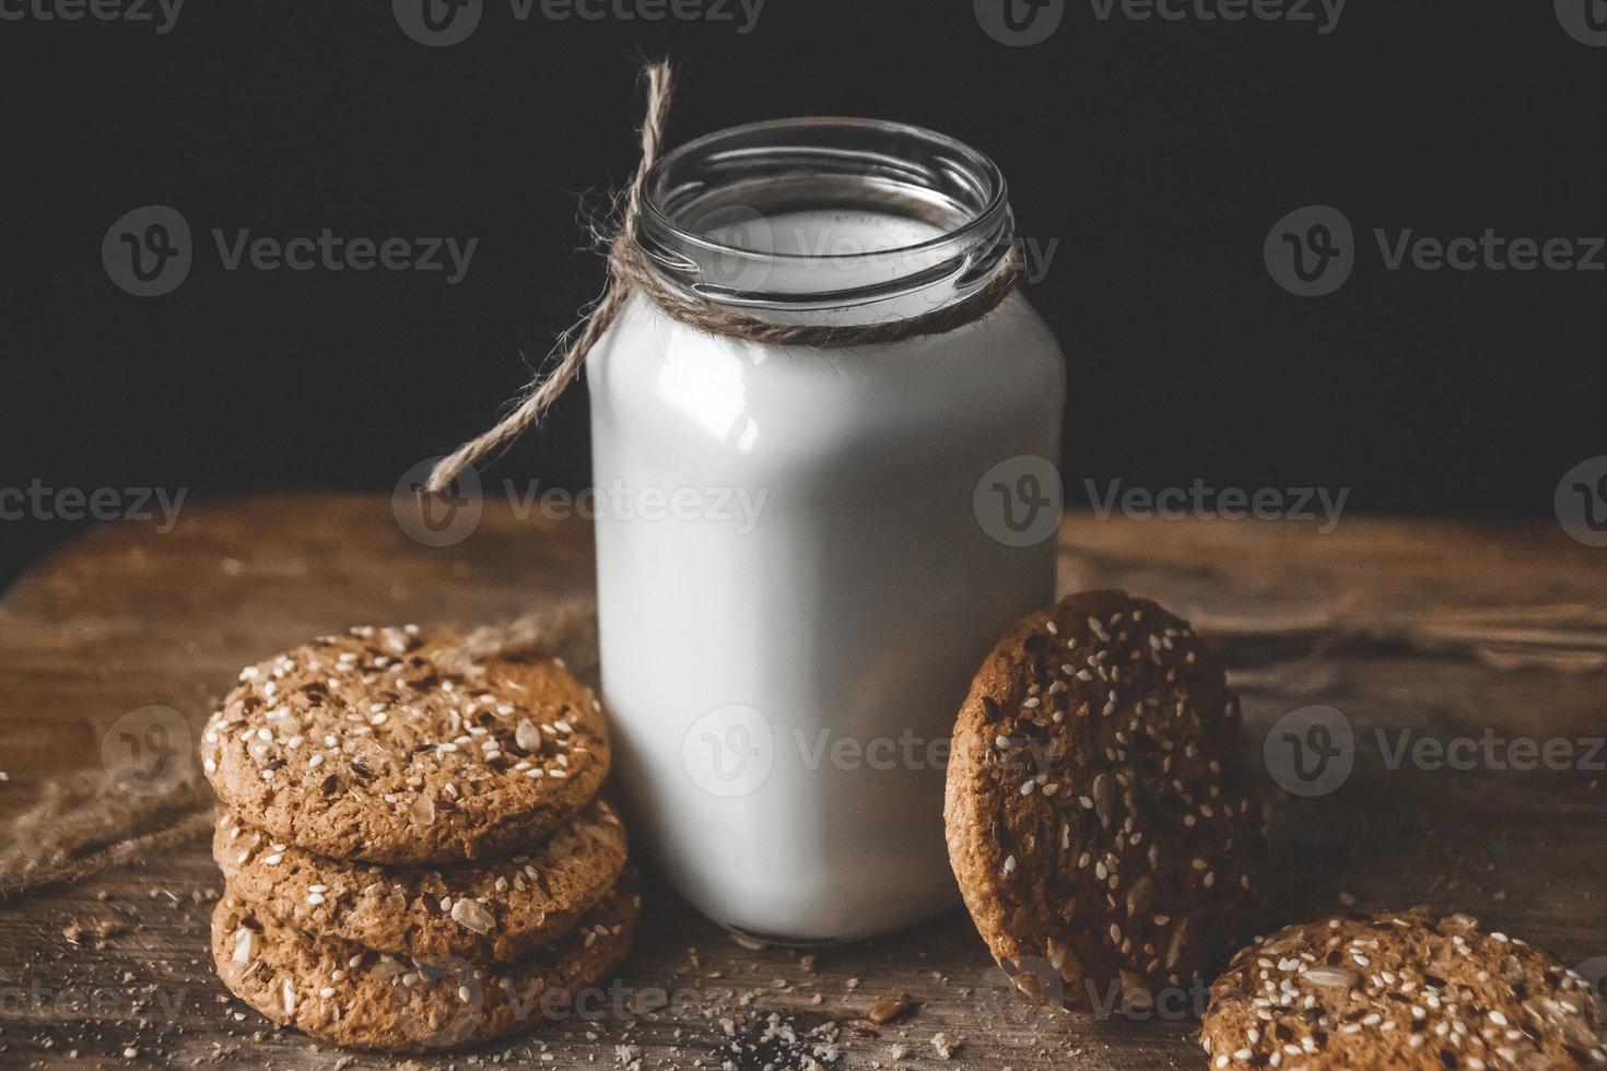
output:
<instances>
[{"instance_id":1,"label":"rustic brown wooden table under the jar and cookies","mask_svg":"<svg viewBox=\"0 0 1607 1071\"><path fill-rule=\"evenodd\" d=\"M1331 707L1355 729L1337 790L1297 796L1266 779L1265 926L1424 902L1570 963L1607 955L1607 756L1591 747L1607 727L1607 551L1544 523L1347 519L1319 535L1295 522L1067 519L1061 588L1106 584L1160 599L1223 650L1258 764L1270 726L1298 708ZM31 808L64 811L90 849L122 837L122 822L180 825L90 877L0 899L0 1066L400 1063L275 1029L217 983L206 928L219 877L183 819L204 788L108 804L76 771L101 766L127 711L170 707L199 724L238 666L307 636L508 618L590 586L583 523L487 506L471 538L432 549L400 531L384 498L196 504L172 533L104 527L40 562L0 604L0 819L22 816L0 843L0 885L39 854ZM1448 753L1474 755L1472 768L1432 750L1393 761L1422 739L1474 740ZM1567 740L1568 758L1520 769L1522 739ZM776 1015L799 1036L836 1036L852 1068L1204 1066L1188 1018L1070 1016L1011 999L963 914L807 955L739 947L651 890L620 1007L418 1063L807 1066L810 1047L770 1029ZM913 1000L903 1018L866 1021L900 992ZM950 1058L934 1034L958 1042Z\"/></svg>"}]
</instances>

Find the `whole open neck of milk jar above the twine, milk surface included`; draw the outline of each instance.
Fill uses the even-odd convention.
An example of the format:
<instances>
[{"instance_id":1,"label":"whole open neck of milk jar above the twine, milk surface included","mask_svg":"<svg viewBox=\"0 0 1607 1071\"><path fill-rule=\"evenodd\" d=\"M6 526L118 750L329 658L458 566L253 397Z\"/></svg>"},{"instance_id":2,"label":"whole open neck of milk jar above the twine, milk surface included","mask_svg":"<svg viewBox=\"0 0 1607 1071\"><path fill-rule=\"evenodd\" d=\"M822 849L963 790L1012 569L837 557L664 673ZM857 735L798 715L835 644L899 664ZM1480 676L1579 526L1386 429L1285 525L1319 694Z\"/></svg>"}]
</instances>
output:
<instances>
[{"instance_id":1,"label":"whole open neck of milk jar above the twine, milk surface included","mask_svg":"<svg viewBox=\"0 0 1607 1071\"><path fill-rule=\"evenodd\" d=\"M638 241L665 286L778 323L873 323L964 300L1014 241L998 167L919 127L784 119L648 173Z\"/></svg>"}]
</instances>

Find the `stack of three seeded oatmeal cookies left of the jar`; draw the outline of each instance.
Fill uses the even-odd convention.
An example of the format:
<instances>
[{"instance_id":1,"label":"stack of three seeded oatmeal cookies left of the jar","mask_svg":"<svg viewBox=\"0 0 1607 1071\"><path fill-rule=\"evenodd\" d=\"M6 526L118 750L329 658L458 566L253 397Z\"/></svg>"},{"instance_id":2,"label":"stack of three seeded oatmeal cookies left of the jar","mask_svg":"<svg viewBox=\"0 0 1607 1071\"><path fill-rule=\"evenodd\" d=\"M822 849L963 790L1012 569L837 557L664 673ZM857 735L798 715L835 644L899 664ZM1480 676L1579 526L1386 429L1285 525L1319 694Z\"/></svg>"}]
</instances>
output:
<instances>
[{"instance_id":1,"label":"stack of three seeded oatmeal cookies left of the jar","mask_svg":"<svg viewBox=\"0 0 1607 1071\"><path fill-rule=\"evenodd\" d=\"M358 628L246 668L202 737L223 983L276 1023L423 1052L567 1010L640 912L609 739L556 660Z\"/></svg>"}]
</instances>

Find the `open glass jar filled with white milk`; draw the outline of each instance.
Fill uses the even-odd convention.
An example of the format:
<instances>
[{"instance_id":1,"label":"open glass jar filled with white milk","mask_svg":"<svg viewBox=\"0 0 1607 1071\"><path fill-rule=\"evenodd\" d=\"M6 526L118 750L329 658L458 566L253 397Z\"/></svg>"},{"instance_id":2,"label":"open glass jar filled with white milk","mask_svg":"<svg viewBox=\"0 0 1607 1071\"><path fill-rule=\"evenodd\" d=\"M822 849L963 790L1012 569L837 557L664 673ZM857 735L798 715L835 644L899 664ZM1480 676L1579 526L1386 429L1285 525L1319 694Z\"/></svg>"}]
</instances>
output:
<instances>
[{"instance_id":1,"label":"open glass jar filled with white milk","mask_svg":"<svg viewBox=\"0 0 1607 1071\"><path fill-rule=\"evenodd\" d=\"M1014 222L998 169L951 138L799 119L659 161L640 241L681 292L865 324L975 292ZM778 347L636 295L587 368L603 692L635 845L765 939L958 906L950 731L982 657L1054 589L1065 371L1046 324L1011 294L943 334Z\"/></svg>"}]
</instances>

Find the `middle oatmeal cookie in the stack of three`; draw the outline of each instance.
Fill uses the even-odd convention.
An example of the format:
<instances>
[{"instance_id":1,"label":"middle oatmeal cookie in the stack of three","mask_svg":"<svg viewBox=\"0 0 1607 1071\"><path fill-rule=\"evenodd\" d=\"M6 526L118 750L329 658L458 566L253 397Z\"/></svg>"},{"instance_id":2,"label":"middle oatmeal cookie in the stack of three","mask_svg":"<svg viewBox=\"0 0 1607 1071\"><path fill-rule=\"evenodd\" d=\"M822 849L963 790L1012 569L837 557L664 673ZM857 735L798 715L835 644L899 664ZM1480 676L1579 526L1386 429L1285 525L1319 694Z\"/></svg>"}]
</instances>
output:
<instances>
[{"instance_id":1,"label":"middle oatmeal cookie in the stack of three","mask_svg":"<svg viewBox=\"0 0 1607 1071\"><path fill-rule=\"evenodd\" d=\"M212 857L235 896L315 936L392 955L511 960L574 928L625 867L625 827L603 800L527 854L456 867L382 867L275 843L222 814Z\"/></svg>"}]
</instances>

